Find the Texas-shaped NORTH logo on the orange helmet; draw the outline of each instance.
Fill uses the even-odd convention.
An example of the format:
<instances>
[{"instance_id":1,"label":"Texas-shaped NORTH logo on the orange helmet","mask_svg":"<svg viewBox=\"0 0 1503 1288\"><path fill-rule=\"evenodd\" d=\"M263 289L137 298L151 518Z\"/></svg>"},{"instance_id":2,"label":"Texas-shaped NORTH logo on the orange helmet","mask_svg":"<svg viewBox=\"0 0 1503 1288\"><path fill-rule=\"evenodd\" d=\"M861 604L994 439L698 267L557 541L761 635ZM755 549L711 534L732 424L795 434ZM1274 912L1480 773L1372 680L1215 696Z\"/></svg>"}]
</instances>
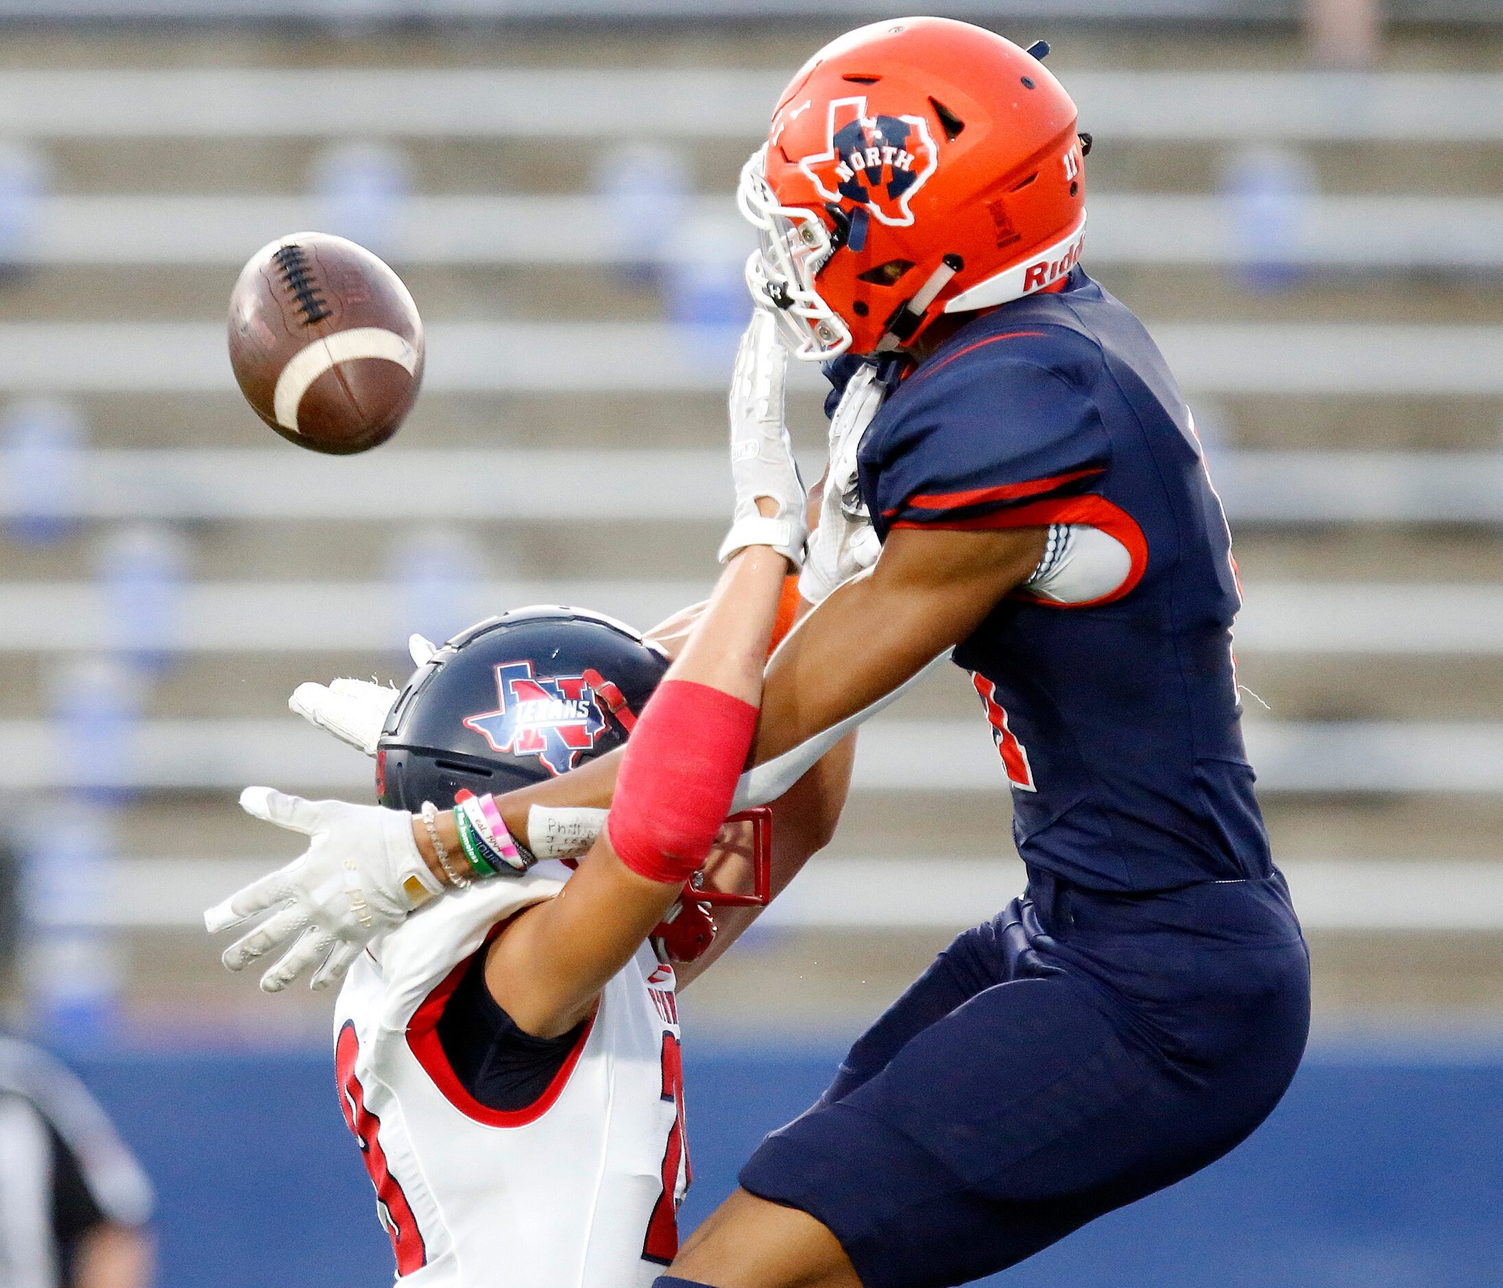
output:
<instances>
[{"instance_id":1,"label":"Texas-shaped NORTH logo on the orange helmet","mask_svg":"<svg viewBox=\"0 0 1503 1288\"><path fill-rule=\"evenodd\" d=\"M921 116L867 116L864 98L830 104L828 150L798 162L827 201L851 201L872 218L905 228L908 203L939 165Z\"/></svg>"}]
</instances>

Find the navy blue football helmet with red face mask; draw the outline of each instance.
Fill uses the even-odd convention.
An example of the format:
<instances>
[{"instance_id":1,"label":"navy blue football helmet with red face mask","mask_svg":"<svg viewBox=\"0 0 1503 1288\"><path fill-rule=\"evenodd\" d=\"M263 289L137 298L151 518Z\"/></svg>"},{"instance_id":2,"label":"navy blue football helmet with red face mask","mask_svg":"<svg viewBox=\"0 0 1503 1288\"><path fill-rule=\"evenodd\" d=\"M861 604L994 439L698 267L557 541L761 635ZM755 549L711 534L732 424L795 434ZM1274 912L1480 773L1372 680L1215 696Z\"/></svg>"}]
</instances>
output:
<instances>
[{"instance_id":1,"label":"navy blue football helmet with red face mask","mask_svg":"<svg viewBox=\"0 0 1503 1288\"><path fill-rule=\"evenodd\" d=\"M625 744L667 672L639 631L585 609L538 606L487 618L454 636L407 681L376 750L388 809L451 809L460 792L500 795L567 774ZM709 905L770 899L770 816L745 810L723 849L748 861L750 891L711 888L696 873L657 927L661 951L688 962L715 933Z\"/></svg>"}]
</instances>

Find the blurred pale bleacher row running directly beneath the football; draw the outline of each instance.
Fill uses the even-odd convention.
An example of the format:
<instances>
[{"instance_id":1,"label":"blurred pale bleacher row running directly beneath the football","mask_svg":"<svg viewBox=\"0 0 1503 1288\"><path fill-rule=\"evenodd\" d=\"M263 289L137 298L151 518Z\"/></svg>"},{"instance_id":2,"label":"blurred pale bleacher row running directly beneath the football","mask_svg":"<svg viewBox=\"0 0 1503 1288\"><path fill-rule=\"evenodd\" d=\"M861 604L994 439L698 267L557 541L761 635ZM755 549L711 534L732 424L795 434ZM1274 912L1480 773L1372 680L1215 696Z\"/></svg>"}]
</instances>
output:
<instances>
[{"instance_id":1,"label":"blurred pale bleacher row running directly beneath the football","mask_svg":"<svg viewBox=\"0 0 1503 1288\"><path fill-rule=\"evenodd\" d=\"M463 460L464 469L454 466ZM816 461L806 461L816 466ZM574 525L640 517L718 523L724 461L714 449L392 448L325 460L286 448L96 448L69 466L77 520L350 520L431 517L415 475L446 479L445 516L475 522ZM1237 523L1500 523L1500 451L1213 449L1211 473ZM810 478L818 475L813 469ZM589 506L577 506L589 496ZM0 522L30 512L18 488L0 488ZM0 627L3 630L3 627Z\"/></svg>"}]
</instances>

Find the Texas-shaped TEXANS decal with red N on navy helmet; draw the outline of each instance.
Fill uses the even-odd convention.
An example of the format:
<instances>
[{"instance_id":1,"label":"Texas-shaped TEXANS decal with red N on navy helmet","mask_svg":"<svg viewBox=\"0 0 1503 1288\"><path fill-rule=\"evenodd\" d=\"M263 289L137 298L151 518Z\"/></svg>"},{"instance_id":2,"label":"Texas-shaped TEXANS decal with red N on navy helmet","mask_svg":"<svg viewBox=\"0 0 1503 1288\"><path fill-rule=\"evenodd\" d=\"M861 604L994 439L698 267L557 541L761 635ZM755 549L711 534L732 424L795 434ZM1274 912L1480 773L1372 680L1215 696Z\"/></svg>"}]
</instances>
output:
<instances>
[{"instance_id":1,"label":"Texas-shaped TEXANS decal with red N on navy helmet","mask_svg":"<svg viewBox=\"0 0 1503 1288\"><path fill-rule=\"evenodd\" d=\"M538 678L531 661L510 661L496 667L496 691L499 708L466 715L466 727L493 751L537 756L553 774L573 769L580 753L607 729L595 690L583 675Z\"/></svg>"}]
</instances>

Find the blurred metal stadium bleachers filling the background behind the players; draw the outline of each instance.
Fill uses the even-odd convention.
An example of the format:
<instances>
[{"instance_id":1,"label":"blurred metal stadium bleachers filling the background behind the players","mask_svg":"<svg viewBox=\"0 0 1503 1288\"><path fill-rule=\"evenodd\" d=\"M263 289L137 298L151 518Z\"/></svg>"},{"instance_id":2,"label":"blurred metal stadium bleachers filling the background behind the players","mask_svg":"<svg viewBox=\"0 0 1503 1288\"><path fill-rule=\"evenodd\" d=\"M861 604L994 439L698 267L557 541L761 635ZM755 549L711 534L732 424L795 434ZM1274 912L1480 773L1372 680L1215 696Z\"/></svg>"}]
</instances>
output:
<instances>
[{"instance_id":1,"label":"blurred metal stadium bleachers filling the background behind the players","mask_svg":"<svg viewBox=\"0 0 1503 1288\"><path fill-rule=\"evenodd\" d=\"M237 815L237 786L368 785L284 702L335 672L403 676L413 532L440 525L473 552L454 625L540 600L648 625L702 594L733 328L681 317L663 265L633 272L639 230L613 221L600 164L676 149L694 182L682 227L738 243L729 183L818 36L730 27L661 68L624 32L574 59L485 29L11 41L0 120L42 177L35 197L0 192L0 398L11 416L63 400L83 437L42 496L0 427L0 792L18 815L80 774L68 658L125 649L101 546L167 525L188 562L90 783L122 891L93 929L125 945L128 1011L213 1023L257 1001L191 911L290 854ZM1133 45L1126 68L1090 39L1051 60L1096 135L1087 266L1160 338L1235 525L1249 742L1330 1020L1473 1007L1503 981L1503 77L1464 39L1497 53L1488 35L1399 35L1383 69L1306 72L1278 41L1231 54L1196 33ZM329 461L239 400L222 310L259 245L328 213L319 167L340 141L410 161L383 251L424 310L428 376L388 448ZM1272 251L1226 177L1270 143L1309 176L1264 194L1288 222ZM809 373L792 406L813 458ZM1013 891L972 700L936 673L866 735L831 857L696 990L703 1013L774 1014L813 986L866 1014ZM1416 935L1441 947L1398 986L1374 962ZM759 965L773 948L803 983Z\"/></svg>"}]
</instances>

